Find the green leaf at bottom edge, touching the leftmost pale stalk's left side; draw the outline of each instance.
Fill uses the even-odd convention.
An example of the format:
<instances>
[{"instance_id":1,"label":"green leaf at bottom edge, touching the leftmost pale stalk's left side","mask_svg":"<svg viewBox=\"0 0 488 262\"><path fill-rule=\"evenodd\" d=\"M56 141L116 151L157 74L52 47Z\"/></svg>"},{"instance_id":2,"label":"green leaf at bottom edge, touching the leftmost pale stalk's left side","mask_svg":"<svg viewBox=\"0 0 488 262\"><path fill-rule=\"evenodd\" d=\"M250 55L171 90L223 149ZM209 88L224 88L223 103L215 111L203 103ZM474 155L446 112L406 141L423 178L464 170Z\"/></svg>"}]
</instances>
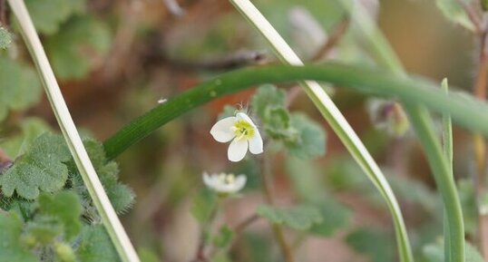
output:
<instances>
[{"instance_id":1,"label":"green leaf at bottom edge, touching the leftmost pale stalk's left side","mask_svg":"<svg viewBox=\"0 0 488 262\"><path fill-rule=\"evenodd\" d=\"M120 261L112 241L102 225L83 228L82 243L76 249L80 262L117 262Z\"/></svg>"}]
</instances>

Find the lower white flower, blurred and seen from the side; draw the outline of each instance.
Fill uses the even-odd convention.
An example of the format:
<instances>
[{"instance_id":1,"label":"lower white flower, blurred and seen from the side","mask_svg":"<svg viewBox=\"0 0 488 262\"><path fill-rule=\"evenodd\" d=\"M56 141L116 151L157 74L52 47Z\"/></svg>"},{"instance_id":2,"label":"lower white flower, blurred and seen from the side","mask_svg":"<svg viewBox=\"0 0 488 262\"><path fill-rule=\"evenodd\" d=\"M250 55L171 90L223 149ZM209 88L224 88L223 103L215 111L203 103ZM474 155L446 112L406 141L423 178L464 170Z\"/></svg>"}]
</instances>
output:
<instances>
[{"instance_id":1,"label":"lower white flower, blurred and seen from the side","mask_svg":"<svg viewBox=\"0 0 488 262\"><path fill-rule=\"evenodd\" d=\"M235 176L234 174L211 174L209 175L207 172L203 173L203 182L209 189L213 189L218 193L223 194L233 194L243 189L246 185L246 176L239 175Z\"/></svg>"}]
</instances>

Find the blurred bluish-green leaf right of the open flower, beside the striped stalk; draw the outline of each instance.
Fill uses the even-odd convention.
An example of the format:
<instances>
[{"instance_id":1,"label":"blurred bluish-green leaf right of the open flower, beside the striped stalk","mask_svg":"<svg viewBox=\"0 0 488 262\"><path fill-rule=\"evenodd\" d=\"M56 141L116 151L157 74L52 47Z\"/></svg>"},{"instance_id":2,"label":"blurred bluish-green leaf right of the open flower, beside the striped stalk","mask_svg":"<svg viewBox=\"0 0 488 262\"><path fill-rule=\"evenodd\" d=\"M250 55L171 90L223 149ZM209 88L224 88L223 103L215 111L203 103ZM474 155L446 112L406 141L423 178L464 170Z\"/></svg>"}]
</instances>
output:
<instances>
[{"instance_id":1,"label":"blurred bluish-green leaf right of the open flower, beside the striped stalk","mask_svg":"<svg viewBox=\"0 0 488 262\"><path fill-rule=\"evenodd\" d=\"M288 152L301 159L313 159L326 153L326 132L307 115L294 113L291 125L298 131L298 140L286 142Z\"/></svg>"}]
</instances>

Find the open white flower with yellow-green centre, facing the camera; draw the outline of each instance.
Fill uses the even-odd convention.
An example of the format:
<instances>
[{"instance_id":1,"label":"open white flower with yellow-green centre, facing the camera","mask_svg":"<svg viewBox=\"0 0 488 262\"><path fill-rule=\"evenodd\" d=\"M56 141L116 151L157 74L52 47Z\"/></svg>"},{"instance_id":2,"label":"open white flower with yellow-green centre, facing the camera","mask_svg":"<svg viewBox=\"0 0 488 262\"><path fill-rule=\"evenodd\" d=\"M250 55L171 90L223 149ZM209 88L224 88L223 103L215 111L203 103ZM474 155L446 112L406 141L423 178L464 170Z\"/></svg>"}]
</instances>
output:
<instances>
[{"instance_id":1,"label":"open white flower with yellow-green centre, facing the camera","mask_svg":"<svg viewBox=\"0 0 488 262\"><path fill-rule=\"evenodd\" d=\"M238 112L236 116L224 118L216 122L210 134L221 143L230 142L227 157L233 162L238 162L249 151L253 154L263 152L263 140L258 127L244 112Z\"/></svg>"}]
</instances>

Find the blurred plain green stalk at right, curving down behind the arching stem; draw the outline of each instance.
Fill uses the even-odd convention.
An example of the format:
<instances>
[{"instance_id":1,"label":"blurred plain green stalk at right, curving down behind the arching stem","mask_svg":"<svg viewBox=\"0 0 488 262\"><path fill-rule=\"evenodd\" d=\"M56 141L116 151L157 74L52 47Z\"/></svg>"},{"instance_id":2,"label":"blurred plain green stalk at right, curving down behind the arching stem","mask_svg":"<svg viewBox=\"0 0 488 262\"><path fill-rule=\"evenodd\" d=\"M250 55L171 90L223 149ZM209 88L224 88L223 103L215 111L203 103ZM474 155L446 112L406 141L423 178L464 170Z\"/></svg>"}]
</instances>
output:
<instances>
[{"instance_id":1,"label":"blurred plain green stalk at right, curving down behind the arching stem","mask_svg":"<svg viewBox=\"0 0 488 262\"><path fill-rule=\"evenodd\" d=\"M346 8L349 7L348 10L353 15L354 22L361 28L361 33L366 39L370 52L376 57L376 61L399 77L405 77L405 69L398 61L385 36L381 34L373 19L367 14L365 7L360 2L339 2ZM355 4L347 6L346 3ZM450 160L446 159L448 156L443 155L440 142L434 134L434 124L425 108L415 103L406 104L405 101L404 103L405 112L412 121L419 140L422 141L427 160L434 173L435 183L444 201L445 221L447 222L447 225L444 226L444 239L447 240L446 244L449 247L447 249L450 253L450 257L447 258L462 262L464 261L464 220L453 179L452 164L451 168L449 167L452 153ZM447 237L448 234L449 237Z\"/></svg>"}]
</instances>

